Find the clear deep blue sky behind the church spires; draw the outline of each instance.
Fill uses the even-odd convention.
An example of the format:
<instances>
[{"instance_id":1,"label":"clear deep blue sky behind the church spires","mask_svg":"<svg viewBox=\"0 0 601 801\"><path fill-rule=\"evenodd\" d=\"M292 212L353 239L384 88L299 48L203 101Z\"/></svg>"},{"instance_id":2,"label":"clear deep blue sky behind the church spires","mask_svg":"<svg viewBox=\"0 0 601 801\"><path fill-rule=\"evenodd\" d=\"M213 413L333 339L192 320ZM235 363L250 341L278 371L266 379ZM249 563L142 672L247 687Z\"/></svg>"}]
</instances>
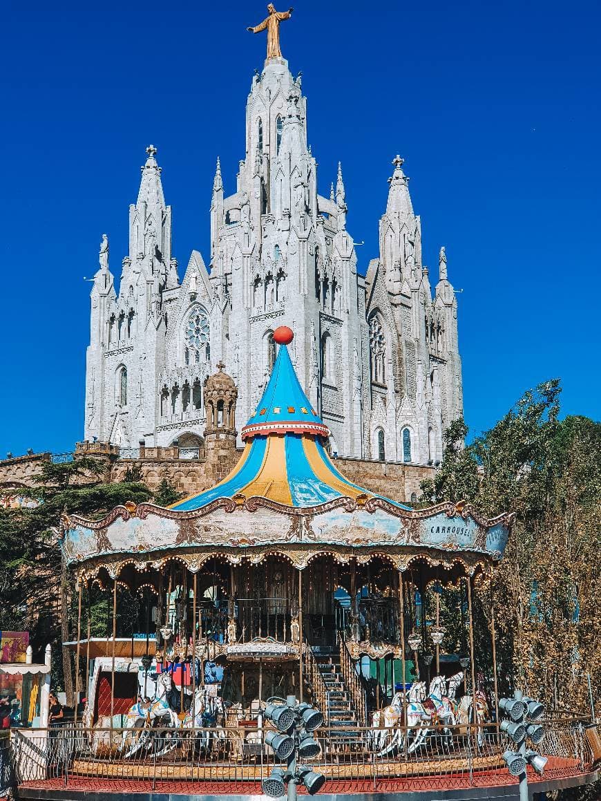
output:
<instances>
[{"instance_id":1,"label":"clear deep blue sky behind the church spires","mask_svg":"<svg viewBox=\"0 0 601 801\"><path fill-rule=\"evenodd\" d=\"M435 268L444 244L464 290L472 431L551 376L563 413L598 418L599 2L293 2L282 50L303 71L320 191L340 159L365 271L391 159L406 159L424 260ZM264 34L246 26L265 6L4 3L2 455L82 437L82 278L104 231L120 274L147 144L173 206L174 255L184 267L192 248L208 260L214 163L234 191L265 55Z\"/></svg>"}]
</instances>

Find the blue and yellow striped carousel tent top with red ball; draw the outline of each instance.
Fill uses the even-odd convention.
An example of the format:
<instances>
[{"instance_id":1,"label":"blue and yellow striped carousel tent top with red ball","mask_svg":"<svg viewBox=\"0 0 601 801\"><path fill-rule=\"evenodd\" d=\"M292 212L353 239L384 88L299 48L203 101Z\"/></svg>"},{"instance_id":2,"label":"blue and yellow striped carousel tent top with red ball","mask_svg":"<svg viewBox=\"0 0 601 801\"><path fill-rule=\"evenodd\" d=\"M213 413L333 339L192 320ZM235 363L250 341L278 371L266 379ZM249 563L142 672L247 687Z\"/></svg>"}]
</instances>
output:
<instances>
[{"instance_id":1,"label":"blue and yellow striped carousel tent top with red ball","mask_svg":"<svg viewBox=\"0 0 601 801\"><path fill-rule=\"evenodd\" d=\"M298 382L286 347L290 328L274 332L278 357L265 392L242 429L246 447L231 473L211 489L170 508L190 511L222 497L265 497L293 507L318 506L339 497L380 497L348 481L323 447L329 429ZM387 499L388 500L388 499ZM409 507L389 501L401 509Z\"/></svg>"}]
</instances>

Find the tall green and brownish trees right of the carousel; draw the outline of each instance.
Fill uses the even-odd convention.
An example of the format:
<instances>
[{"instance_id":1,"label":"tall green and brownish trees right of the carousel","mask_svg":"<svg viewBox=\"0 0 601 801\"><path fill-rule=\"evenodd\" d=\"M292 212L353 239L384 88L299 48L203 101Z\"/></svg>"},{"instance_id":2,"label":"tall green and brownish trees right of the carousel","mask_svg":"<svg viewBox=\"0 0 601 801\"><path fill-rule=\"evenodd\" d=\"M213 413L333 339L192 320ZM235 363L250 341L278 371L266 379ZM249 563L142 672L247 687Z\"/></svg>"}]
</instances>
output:
<instances>
[{"instance_id":1,"label":"tall green and brownish trees right of the carousel","mask_svg":"<svg viewBox=\"0 0 601 801\"><path fill-rule=\"evenodd\" d=\"M599 714L601 424L559 420L560 391L559 380L539 384L465 447L467 427L453 424L422 501L465 498L491 516L516 513L492 589L475 597L480 632L495 604L499 689L525 686L547 706L590 714L590 675ZM486 661L490 643L480 646Z\"/></svg>"}]
</instances>

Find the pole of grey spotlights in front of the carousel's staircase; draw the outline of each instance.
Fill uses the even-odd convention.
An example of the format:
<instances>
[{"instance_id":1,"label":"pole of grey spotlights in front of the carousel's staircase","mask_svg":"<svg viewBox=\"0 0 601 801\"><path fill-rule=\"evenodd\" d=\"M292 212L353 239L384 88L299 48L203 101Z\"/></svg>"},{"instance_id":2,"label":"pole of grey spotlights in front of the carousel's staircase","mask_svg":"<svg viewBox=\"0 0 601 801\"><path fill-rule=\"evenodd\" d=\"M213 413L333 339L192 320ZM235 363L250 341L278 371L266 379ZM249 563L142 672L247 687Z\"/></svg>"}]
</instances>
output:
<instances>
[{"instance_id":1,"label":"pole of grey spotlights in front of the carousel's staircase","mask_svg":"<svg viewBox=\"0 0 601 801\"><path fill-rule=\"evenodd\" d=\"M286 771L281 767L272 769L270 776L261 783L264 795L278 799L286 794L288 801L296 801L299 784L307 788L309 795L315 795L326 777L312 767L297 767L297 755L309 759L319 755L321 747L313 732L322 726L323 714L315 706L298 703L294 695L287 695L285 700L269 698L265 717L278 730L267 732L265 742L279 759L286 759Z\"/></svg>"}]
</instances>

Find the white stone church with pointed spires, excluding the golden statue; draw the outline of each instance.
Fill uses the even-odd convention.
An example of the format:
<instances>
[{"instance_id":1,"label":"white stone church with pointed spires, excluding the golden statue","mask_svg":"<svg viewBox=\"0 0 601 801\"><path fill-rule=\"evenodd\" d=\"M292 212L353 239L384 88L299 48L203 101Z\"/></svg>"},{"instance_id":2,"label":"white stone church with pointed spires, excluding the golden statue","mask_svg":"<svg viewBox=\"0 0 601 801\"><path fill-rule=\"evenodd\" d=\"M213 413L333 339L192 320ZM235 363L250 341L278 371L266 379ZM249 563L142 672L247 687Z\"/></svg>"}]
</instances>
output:
<instances>
[{"instance_id":1,"label":"white stone church with pointed spires, excluding the golden statue","mask_svg":"<svg viewBox=\"0 0 601 801\"><path fill-rule=\"evenodd\" d=\"M146 151L118 290L106 237L94 276L85 439L202 445L204 384L219 362L238 387L239 431L274 364L274 328L286 324L332 451L438 462L443 430L463 412L457 303L444 248L432 291L403 159L392 165L379 256L363 276L342 169L319 195L300 77L267 58L246 103L234 194L217 163L208 265L193 251L180 276L157 151Z\"/></svg>"}]
</instances>

